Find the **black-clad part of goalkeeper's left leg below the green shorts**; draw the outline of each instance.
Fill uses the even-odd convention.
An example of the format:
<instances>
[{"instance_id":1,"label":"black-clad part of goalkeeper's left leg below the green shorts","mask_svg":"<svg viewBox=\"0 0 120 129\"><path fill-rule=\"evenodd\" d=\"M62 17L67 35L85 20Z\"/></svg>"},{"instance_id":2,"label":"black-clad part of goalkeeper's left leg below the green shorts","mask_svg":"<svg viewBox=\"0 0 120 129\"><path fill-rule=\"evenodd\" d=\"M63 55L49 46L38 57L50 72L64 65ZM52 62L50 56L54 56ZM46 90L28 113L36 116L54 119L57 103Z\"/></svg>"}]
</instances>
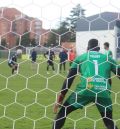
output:
<instances>
[{"instance_id":1,"label":"black-clad part of goalkeeper's left leg below the green shorts","mask_svg":"<svg viewBox=\"0 0 120 129\"><path fill-rule=\"evenodd\" d=\"M61 129L65 123L66 116L70 114L72 111L76 110L74 106L70 106L68 102L63 104L64 107L61 107L60 111L58 112L54 122L52 129Z\"/></svg>"}]
</instances>

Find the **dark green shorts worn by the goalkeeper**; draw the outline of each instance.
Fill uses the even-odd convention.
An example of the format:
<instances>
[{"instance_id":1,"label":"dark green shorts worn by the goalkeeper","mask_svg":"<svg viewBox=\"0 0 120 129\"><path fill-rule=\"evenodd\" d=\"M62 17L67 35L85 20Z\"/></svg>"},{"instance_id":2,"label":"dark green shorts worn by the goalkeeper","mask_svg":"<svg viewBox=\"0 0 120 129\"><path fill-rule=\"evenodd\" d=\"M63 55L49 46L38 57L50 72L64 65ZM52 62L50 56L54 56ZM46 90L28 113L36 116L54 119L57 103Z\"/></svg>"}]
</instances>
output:
<instances>
[{"instance_id":1,"label":"dark green shorts worn by the goalkeeper","mask_svg":"<svg viewBox=\"0 0 120 129\"><path fill-rule=\"evenodd\" d=\"M105 109L106 111L112 111L112 100L110 97L103 98L72 93L68 97L67 103L69 103L69 105L74 106L76 109L82 109L90 103L95 103L100 112L105 112Z\"/></svg>"}]
</instances>

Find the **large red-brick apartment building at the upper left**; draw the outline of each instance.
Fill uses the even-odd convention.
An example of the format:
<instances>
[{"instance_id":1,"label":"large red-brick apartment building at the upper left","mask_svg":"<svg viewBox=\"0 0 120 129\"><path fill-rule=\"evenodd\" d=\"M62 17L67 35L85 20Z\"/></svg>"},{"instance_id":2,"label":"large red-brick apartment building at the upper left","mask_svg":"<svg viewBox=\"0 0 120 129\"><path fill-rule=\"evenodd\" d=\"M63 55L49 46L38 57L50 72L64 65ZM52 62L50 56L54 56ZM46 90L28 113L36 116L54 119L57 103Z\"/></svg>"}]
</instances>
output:
<instances>
[{"instance_id":1,"label":"large red-brick apartment building at the upper left","mask_svg":"<svg viewBox=\"0 0 120 129\"><path fill-rule=\"evenodd\" d=\"M20 36L27 32L30 33L30 40L35 39L36 44L39 44L40 35L47 31L43 29L41 20L29 17L15 8L0 8L0 17L1 44L8 48L18 45ZM42 39L41 43L45 42Z\"/></svg>"}]
</instances>

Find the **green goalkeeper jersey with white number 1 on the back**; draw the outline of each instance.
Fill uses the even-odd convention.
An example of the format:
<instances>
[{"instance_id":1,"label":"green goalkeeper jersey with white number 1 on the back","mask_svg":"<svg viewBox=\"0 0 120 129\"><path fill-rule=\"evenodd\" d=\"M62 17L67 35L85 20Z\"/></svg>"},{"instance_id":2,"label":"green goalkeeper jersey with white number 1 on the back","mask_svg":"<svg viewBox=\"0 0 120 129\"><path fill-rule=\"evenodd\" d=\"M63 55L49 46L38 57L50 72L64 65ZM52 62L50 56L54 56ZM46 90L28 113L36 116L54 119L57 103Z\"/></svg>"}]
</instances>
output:
<instances>
[{"instance_id":1,"label":"green goalkeeper jersey with white number 1 on the back","mask_svg":"<svg viewBox=\"0 0 120 129\"><path fill-rule=\"evenodd\" d=\"M117 64L111 57L90 51L78 56L71 68L78 68L81 74L80 83L76 88L78 94L93 96L98 93L100 97L109 97L111 86L108 79L111 77L111 71L115 73L117 69ZM101 91L105 92L100 94Z\"/></svg>"}]
</instances>

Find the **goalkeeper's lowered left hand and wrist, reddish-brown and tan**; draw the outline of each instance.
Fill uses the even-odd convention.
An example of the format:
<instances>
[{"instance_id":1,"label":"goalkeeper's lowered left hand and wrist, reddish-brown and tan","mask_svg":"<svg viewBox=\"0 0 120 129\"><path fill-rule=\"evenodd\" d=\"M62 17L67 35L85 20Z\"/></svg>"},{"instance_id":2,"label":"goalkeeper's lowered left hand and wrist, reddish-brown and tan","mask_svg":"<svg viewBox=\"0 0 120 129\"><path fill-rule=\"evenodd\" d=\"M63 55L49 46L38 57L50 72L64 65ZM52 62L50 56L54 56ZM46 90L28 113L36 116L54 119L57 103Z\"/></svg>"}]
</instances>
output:
<instances>
[{"instance_id":1,"label":"goalkeeper's lowered left hand and wrist, reddish-brown and tan","mask_svg":"<svg viewBox=\"0 0 120 129\"><path fill-rule=\"evenodd\" d=\"M59 107L63 103L64 97L65 97L65 95L63 95L62 93L60 93L60 95L57 97L57 102L54 105L54 113L55 114L58 112Z\"/></svg>"}]
</instances>

